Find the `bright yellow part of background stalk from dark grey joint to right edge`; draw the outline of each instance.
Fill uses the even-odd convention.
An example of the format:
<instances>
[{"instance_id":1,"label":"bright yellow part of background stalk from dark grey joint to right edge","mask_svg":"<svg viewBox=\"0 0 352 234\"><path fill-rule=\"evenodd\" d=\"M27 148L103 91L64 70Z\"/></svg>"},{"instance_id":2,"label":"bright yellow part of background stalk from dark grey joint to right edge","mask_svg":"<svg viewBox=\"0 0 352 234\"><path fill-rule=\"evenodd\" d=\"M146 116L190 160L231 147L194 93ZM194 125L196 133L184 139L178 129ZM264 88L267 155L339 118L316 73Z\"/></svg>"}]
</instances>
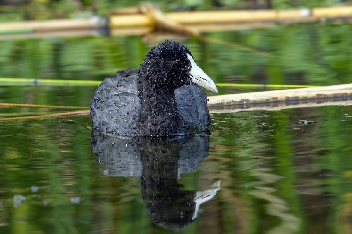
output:
<instances>
[{"instance_id":1,"label":"bright yellow part of background stalk from dark grey joint to right edge","mask_svg":"<svg viewBox=\"0 0 352 234\"><path fill-rule=\"evenodd\" d=\"M113 15L110 17L111 27L151 26L153 20L143 15ZM204 12L172 12L165 13L172 21L184 25L253 21L287 21L295 22L319 20L321 17L352 16L352 6L338 6L328 8L298 9L298 10L252 10L252 11L204 11Z\"/></svg>"}]
</instances>

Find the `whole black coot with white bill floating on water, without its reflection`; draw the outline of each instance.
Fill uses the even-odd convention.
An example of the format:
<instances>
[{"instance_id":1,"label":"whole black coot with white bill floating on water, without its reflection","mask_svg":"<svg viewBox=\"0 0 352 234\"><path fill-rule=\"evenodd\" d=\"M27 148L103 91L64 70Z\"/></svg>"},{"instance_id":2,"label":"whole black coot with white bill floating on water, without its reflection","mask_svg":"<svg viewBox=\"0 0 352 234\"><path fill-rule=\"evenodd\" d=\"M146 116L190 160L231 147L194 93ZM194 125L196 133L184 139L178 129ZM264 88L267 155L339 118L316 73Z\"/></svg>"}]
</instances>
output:
<instances>
[{"instance_id":1,"label":"whole black coot with white bill floating on water, without its reflection","mask_svg":"<svg viewBox=\"0 0 352 234\"><path fill-rule=\"evenodd\" d=\"M218 92L188 48L165 41L151 49L140 69L103 80L90 102L93 128L133 136L185 135L210 126L207 95Z\"/></svg>"}]
</instances>

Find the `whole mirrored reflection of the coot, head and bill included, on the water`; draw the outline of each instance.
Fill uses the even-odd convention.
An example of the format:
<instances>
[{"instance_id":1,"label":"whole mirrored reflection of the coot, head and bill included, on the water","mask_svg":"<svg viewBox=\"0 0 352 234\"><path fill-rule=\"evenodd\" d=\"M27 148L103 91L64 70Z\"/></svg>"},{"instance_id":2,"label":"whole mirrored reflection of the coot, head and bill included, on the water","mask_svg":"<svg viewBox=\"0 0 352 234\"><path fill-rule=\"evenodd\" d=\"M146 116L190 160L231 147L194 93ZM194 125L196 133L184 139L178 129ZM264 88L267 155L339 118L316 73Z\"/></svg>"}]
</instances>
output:
<instances>
[{"instance_id":1,"label":"whole mirrored reflection of the coot, head and bill included, on the water","mask_svg":"<svg viewBox=\"0 0 352 234\"><path fill-rule=\"evenodd\" d=\"M180 229L193 222L201 203L211 200L220 181L210 189L182 189L178 179L194 172L208 156L209 135L174 139L126 138L92 131L92 151L110 176L132 176L140 180L143 201L154 223Z\"/></svg>"}]
</instances>

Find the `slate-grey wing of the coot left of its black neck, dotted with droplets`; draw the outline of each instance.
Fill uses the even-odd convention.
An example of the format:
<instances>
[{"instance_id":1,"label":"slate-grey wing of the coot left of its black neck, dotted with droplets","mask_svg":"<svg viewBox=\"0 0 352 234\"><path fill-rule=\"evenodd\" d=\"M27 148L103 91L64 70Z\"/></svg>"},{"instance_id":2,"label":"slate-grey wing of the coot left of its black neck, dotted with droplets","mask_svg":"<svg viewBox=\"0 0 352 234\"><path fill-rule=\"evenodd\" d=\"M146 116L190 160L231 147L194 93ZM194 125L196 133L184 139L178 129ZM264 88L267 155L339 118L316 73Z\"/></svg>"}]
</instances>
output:
<instances>
[{"instance_id":1,"label":"slate-grey wing of the coot left of its black neck, dotted with droplets","mask_svg":"<svg viewBox=\"0 0 352 234\"><path fill-rule=\"evenodd\" d=\"M136 71L134 71L136 70ZM90 102L92 127L100 132L132 135L138 120L138 69L104 79Z\"/></svg>"}]
</instances>

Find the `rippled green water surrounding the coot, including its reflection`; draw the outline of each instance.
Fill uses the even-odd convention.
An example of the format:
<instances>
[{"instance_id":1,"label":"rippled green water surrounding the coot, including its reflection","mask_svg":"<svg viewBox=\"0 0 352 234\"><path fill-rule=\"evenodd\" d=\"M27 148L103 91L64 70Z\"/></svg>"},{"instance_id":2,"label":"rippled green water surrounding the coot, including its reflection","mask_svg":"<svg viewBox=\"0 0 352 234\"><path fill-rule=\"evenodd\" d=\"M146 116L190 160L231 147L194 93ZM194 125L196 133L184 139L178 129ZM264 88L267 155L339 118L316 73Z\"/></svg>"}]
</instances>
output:
<instances>
[{"instance_id":1,"label":"rippled green water surrounding the coot, including its reflection","mask_svg":"<svg viewBox=\"0 0 352 234\"><path fill-rule=\"evenodd\" d=\"M351 82L346 29L296 25L209 35L264 56L180 40L216 82L332 85ZM81 80L138 67L150 48L136 37L0 46L2 77ZM94 89L3 86L0 102L88 106ZM0 111L3 118L67 110ZM212 120L210 135L168 140L92 133L88 116L0 122L0 233L352 233L351 106Z\"/></svg>"}]
</instances>

